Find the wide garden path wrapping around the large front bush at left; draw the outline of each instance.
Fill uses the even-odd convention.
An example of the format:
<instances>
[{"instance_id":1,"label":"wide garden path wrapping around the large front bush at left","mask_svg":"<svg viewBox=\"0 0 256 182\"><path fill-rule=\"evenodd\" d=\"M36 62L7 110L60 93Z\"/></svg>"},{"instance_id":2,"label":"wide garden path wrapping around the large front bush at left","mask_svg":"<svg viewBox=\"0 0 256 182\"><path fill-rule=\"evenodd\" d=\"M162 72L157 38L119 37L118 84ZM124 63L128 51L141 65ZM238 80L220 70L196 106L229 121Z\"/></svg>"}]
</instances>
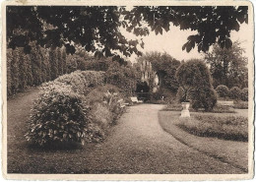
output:
<instances>
[{"instance_id":1,"label":"wide garden path wrapping around the large front bush at left","mask_svg":"<svg viewBox=\"0 0 256 182\"><path fill-rule=\"evenodd\" d=\"M242 173L164 132L161 105L128 107L107 139L73 151L31 149L24 137L38 90L8 100L8 171L15 173Z\"/></svg>"}]
</instances>

